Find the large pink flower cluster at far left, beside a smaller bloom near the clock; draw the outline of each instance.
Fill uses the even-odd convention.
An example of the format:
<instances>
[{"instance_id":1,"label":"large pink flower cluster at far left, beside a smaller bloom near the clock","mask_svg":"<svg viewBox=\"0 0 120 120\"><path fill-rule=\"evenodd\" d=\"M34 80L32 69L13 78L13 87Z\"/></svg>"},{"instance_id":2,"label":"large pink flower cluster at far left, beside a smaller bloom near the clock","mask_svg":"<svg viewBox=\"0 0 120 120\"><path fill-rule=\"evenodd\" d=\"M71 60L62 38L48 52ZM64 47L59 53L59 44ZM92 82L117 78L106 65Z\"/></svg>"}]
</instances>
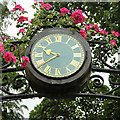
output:
<instances>
[{"instance_id":1,"label":"large pink flower cluster at far left, beside a smaller bloom near the clock","mask_svg":"<svg viewBox=\"0 0 120 120\"><path fill-rule=\"evenodd\" d=\"M14 63L17 62L17 59L16 57L12 54L12 52L6 52L4 55L3 55L3 58L6 60L6 62L11 62L13 61Z\"/></svg>"}]
</instances>

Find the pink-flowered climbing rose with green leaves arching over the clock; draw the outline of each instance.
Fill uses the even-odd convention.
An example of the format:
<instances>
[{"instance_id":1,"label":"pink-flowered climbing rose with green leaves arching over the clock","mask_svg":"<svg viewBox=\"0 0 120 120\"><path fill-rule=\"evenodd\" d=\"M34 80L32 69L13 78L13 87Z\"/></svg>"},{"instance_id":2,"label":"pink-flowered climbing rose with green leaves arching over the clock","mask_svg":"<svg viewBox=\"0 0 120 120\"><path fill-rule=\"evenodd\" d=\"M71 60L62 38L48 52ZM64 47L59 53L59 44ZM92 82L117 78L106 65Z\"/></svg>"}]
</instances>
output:
<instances>
[{"instance_id":1,"label":"pink-flowered climbing rose with green leaves arching over the clock","mask_svg":"<svg viewBox=\"0 0 120 120\"><path fill-rule=\"evenodd\" d=\"M14 19L17 21L16 27L19 28L19 32L17 35L22 33L21 39L16 38L14 41L26 41L30 40L31 36L34 36L37 30L42 25L53 25L55 23L58 23L57 27L63 27L62 24L68 24L72 26L77 26L80 28L80 31L76 30L82 37L84 37L86 40L92 41L94 40L95 36L99 36L100 42L106 41L108 47L111 49L111 55L112 53L115 53L114 47L118 47L117 43L119 43L118 37L120 36L120 33L112 30L111 33L108 33L106 29L101 29L96 23L90 22L89 19L85 18L84 11L80 9L72 10L66 7L57 8L59 10L56 10L53 8L53 5L50 5L49 3L44 3L42 0L34 0L35 3L32 5L33 9L36 10L36 13L34 14L34 18L29 19L25 17L24 13L27 13L24 8L20 6L20 4L15 4L15 7L11 10L11 14L14 16L15 13L17 14L17 17ZM19 10L20 13L17 13ZM0 56L3 56L3 59L6 63L13 62L16 63L17 66L26 67L27 63L29 63L29 58L24 57L25 54L25 48L28 45L21 45L20 47L20 56L22 57L21 60L18 60L18 49L17 46L14 46L14 51L9 51L7 46L5 45L5 41L8 40L8 38L2 36L1 40L3 40L3 43L0 42ZM12 42L11 40L8 40Z\"/></svg>"}]
</instances>

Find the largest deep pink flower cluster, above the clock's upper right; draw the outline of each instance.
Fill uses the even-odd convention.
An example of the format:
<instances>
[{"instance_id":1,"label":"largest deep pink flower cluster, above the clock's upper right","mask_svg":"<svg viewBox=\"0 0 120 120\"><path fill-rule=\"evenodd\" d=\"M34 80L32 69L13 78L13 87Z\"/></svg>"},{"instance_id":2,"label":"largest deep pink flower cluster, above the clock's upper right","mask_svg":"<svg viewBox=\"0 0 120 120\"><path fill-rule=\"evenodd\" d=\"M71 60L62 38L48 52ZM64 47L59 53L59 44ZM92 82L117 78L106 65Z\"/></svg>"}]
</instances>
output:
<instances>
[{"instance_id":1,"label":"largest deep pink flower cluster, above the clock's upper right","mask_svg":"<svg viewBox=\"0 0 120 120\"><path fill-rule=\"evenodd\" d=\"M76 24L85 22L85 17L83 16L83 12L80 9L73 11L71 19Z\"/></svg>"}]
</instances>

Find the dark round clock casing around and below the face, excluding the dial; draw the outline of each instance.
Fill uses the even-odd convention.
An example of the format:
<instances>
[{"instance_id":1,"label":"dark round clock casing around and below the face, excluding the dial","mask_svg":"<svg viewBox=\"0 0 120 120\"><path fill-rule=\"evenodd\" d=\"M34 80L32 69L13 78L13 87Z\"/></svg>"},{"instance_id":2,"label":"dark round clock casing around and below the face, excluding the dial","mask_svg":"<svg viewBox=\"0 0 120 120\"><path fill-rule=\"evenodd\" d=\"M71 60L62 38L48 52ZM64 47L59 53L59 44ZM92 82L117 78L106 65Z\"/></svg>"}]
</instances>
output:
<instances>
[{"instance_id":1,"label":"dark round clock casing around and below the face, excluding the dial","mask_svg":"<svg viewBox=\"0 0 120 120\"><path fill-rule=\"evenodd\" d=\"M31 48L36 40L40 40L42 37L53 33L68 34L79 40L81 45L83 45L86 54L82 67L71 76L64 78L52 78L45 76L33 67L32 62L27 64L25 71L26 77L35 91L43 94L44 96L63 98L66 97L66 94L80 92L85 86L87 78L91 72L91 50L88 42L79 33L66 28L49 28L41 33L38 33L31 39L29 46L26 48L26 56L30 58Z\"/></svg>"}]
</instances>

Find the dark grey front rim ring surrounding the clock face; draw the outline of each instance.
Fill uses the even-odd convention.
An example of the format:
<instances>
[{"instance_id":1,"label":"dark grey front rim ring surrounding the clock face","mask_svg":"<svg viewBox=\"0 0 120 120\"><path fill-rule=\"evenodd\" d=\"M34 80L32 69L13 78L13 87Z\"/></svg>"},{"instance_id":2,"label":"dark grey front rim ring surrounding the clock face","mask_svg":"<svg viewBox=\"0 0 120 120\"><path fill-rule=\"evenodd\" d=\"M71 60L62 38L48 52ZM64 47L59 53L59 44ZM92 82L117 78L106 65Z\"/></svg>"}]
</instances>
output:
<instances>
[{"instance_id":1,"label":"dark grey front rim ring surrounding the clock face","mask_svg":"<svg viewBox=\"0 0 120 120\"><path fill-rule=\"evenodd\" d=\"M84 59L84 62L82 64L82 66L73 74L69 75L68 77L50 77L50 76L46 76L42 73L40 73L32 63L31 61L31 49L32 49L32 46L34 45L34 43L38 40L40 40L41 38L45 37L46 35L49 35L49 34L53 34L53 33L56 33L56 34L67 34L67 35L70 35L72 36L73 38L75 38L76 40L78 40L79 38L79 42L80 44L82 45L83 49L84 49L84 52L85 52L85 59ZM39 38L39 39L37 39ZM29 43L29 47L26 49L26 55L30 58L30 61L31 63L28 63L27 65L27 68L30 70L30 72L34 75L34 77L36 77L38 80L42 80L43 82L47 82L49 84L64 84L66 83L66 79L69 79L69 82L72 82L76 79L78 79L79 77L83 76L84 73L90 69L90 65L91 65L91 51L90 51L90 48L89 48L89 44L87 43L87 41L77 32L73 31L73 30L70 30L70 29L66 29L66 28L49 28L49 29L46 29L44 30L43 32L41 33L38 33L37 35L35 35L30 43ZM88 59L89 58L89 59ZM82 70L82 72L81 72ZM75 76L75 77L74 77ZM49 80L48 80L49 79ZM57 80L57 82L55 82Z\"/></svg>"}]
</instances>

